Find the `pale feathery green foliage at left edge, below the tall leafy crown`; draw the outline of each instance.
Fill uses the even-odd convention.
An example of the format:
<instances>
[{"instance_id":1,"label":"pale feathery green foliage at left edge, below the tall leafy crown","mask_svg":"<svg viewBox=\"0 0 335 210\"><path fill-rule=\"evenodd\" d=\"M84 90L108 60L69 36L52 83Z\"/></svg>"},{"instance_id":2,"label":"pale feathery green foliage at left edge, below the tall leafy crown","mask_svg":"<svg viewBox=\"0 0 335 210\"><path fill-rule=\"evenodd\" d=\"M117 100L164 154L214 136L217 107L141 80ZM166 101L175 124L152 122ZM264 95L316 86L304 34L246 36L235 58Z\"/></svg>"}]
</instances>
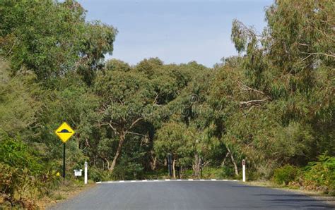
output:
<instances>
[{"instance_id":1,"label":"pale feathery green foliage at left edge, below the tall leafy crown","mask_svg":"<svg viewBox=\"0 0 335 210\"><path fill-rule=\"evenodd\" d=\"M0 57L0 130L8 135L24 135L22 130L36 122L41 104L33 79L29 71L12 78L8 62Z\"/></svg>"}]
</instances>

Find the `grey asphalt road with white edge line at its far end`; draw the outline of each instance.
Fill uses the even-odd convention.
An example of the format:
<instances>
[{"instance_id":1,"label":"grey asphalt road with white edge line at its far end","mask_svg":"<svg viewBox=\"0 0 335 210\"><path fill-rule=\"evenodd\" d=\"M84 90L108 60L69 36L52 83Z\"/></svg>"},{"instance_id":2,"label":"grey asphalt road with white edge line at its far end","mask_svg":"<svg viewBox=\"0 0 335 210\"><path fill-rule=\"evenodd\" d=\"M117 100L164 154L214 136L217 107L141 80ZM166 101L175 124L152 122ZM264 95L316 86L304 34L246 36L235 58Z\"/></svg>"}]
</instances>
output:
<instances>
[{"instance_id":1,"label":"grey asphalt road with white edge line at its far end","mask_svg":"<svg viewBox=\"0 0 335 210\"><path fill-rule=\"evenodd\" d=\"M230 181L100 183L52 209L334 209L293 192Z\"/></svg>"}]
</instances>

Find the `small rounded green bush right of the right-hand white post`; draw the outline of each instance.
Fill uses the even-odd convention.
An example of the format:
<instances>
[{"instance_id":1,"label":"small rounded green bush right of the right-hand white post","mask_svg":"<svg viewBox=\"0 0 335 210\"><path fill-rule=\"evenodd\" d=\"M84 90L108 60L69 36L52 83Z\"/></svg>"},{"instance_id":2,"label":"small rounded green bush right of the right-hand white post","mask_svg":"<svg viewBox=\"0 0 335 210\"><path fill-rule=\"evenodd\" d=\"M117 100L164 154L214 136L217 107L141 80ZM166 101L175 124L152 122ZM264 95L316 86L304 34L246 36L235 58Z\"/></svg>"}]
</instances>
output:
<instances>
[{"instance_id":1,"label":"small rounded green bush right of the right-hand white post","mask_svg":"<svg viewBox=\"0 0 335 210\"><path fill-rule=\"evenodd\" d=\"M277 168L274 171L274 181L278 185L288 185L288 183L295 180L298 175L298 169L294 166L286 165L281 168Z\"/></svg>"}]
</instances>

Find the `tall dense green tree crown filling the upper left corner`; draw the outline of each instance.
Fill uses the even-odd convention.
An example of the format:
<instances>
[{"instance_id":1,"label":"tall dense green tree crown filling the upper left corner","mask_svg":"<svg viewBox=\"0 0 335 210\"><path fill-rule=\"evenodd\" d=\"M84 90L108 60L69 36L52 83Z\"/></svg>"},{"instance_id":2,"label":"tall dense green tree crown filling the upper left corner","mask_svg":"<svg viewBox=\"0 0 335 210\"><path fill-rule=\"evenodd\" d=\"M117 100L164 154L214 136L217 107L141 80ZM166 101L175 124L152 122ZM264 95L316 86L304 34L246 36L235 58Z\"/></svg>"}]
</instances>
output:
<instances>
[{"instance_id":1,"label":"tall dense green tree crown filling the upper left corner","mask_svg":"<svg viewBox=\"0 0 335 210\"><path fill-rule=\"evenodd\" d=\"M15 74L26 67L45 82L78 68L90 84L112 53L117 30L86 23L76 1L1 1L0 11L0 53L11 58Z\"/></svg>"}]
</instances>

